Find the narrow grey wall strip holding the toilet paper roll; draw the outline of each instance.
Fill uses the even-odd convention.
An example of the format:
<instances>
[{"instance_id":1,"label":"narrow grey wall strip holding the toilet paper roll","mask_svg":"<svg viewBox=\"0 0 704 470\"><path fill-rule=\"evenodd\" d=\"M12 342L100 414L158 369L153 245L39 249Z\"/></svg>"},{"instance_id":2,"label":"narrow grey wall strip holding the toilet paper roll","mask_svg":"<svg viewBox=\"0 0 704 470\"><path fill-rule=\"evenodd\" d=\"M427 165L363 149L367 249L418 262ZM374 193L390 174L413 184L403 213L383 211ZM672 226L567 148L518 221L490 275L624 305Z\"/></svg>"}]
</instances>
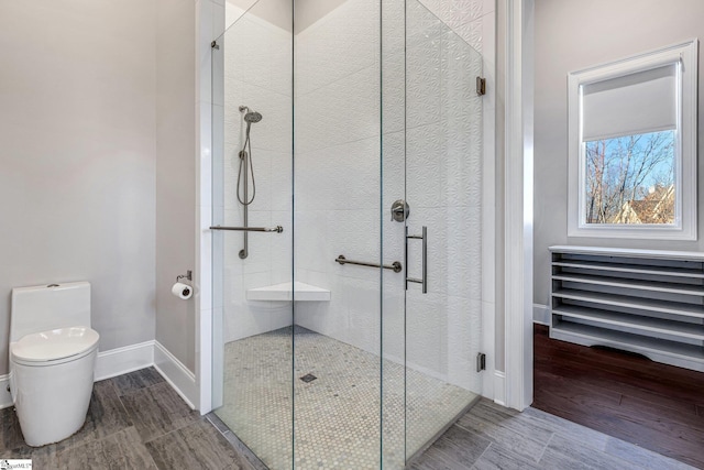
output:
<instances>
[{"instance_id":1,"label":"narrow grey wall strip holding the toilet paper roll","mask_svg":"<svg viewBox=\"0 0 704 470\"><path fill-rule=\"evenodd\" d=\"M196 9L156 1L156 340L191 372L195 298L170 294L196 270Z\"/></svg>"}]
</instances>

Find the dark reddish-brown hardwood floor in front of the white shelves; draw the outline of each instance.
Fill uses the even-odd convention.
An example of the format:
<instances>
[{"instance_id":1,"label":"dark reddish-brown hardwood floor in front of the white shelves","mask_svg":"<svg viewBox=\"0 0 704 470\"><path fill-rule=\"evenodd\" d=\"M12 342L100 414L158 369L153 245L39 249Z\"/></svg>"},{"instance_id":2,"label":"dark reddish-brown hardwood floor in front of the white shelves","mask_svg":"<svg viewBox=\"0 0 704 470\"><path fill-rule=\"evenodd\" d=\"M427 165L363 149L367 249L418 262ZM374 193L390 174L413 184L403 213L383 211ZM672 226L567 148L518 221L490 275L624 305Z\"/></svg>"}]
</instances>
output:
<instances>
[{"instance_id":1,"label":"dark reddish-brown hardwood floor in front of the white shelves","mask_svg":"<svg viewBox=\"0 0 704 470\"><path fill-rule=\"evenodd\" d=\"M534 334L534 407L704 468L704 373Z\"/></svg>"}]
</instances>

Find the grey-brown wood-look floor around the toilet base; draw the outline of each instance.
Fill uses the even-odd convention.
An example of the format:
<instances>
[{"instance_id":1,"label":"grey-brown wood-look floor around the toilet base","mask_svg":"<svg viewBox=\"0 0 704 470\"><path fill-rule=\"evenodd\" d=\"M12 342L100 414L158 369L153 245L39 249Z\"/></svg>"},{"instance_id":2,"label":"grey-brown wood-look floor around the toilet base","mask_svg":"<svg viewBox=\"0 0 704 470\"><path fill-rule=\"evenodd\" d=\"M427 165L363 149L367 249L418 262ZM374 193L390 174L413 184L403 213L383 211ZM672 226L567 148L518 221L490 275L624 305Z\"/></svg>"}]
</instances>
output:
<instances>
[{"instance_id":1,"label":"grey-brown wood-look floor around the toilet base","mask_svg":"<svg viewBox=\"0 0 704 470\"><path fill-rule=\"evenodd\" d=\"M96 382L84 427L57 444L24 444L12 407L0 409L0 459L34 469L232 469L246 460L154 368Z\"/></svg>"}]
</instances>

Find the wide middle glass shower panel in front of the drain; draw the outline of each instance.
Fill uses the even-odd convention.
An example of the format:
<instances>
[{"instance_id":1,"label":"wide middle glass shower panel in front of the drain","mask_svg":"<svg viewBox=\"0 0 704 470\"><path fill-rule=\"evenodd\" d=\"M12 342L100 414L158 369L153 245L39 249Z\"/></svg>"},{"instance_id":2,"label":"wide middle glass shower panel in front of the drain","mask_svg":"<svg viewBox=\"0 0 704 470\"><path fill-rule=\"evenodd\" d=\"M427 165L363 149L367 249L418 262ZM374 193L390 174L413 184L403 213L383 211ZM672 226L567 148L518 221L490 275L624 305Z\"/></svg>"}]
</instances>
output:
<instances>
[{"instance_id":1,"label":"wide middle glass shower panel in front of the drain","mask_svg":"<svg viewBox=\"0 0 704 470\"><path fill-rule=\"evenodd\" d=\"M295 280L329 293L296 294L297 469L382 466L381 4L296 9Z\"/></svg>"}]
</instances>

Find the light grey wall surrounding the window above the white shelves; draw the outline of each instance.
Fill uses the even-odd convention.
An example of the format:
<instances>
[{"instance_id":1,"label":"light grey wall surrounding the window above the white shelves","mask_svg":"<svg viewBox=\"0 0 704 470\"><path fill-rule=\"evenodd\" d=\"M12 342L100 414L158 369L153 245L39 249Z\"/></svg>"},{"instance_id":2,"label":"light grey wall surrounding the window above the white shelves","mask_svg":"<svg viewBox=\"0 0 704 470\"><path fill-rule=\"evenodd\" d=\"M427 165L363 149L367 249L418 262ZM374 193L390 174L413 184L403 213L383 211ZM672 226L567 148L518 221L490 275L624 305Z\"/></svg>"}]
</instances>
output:
<instances>
[{"instance_id":1,"label":"light grey wall surrounding the window above the white shelves","mask_svg":"<svg viewBox=\"0 0 704 470\"><path fill-rule=\"evenodd\" d=\"M535 267L534 297L548 304L552 244L704 250L704 192L698 192L697 242L568 238L566 74L691 37L704 37L704 3L697 0L536 0L535 52ZM700 57L701 57L700 46ZM704 118L704 74L698 117ZM704 131L700 127L700 153ZM700 164L700 183L704 179Z\"/></svg>"}]
</instances>

